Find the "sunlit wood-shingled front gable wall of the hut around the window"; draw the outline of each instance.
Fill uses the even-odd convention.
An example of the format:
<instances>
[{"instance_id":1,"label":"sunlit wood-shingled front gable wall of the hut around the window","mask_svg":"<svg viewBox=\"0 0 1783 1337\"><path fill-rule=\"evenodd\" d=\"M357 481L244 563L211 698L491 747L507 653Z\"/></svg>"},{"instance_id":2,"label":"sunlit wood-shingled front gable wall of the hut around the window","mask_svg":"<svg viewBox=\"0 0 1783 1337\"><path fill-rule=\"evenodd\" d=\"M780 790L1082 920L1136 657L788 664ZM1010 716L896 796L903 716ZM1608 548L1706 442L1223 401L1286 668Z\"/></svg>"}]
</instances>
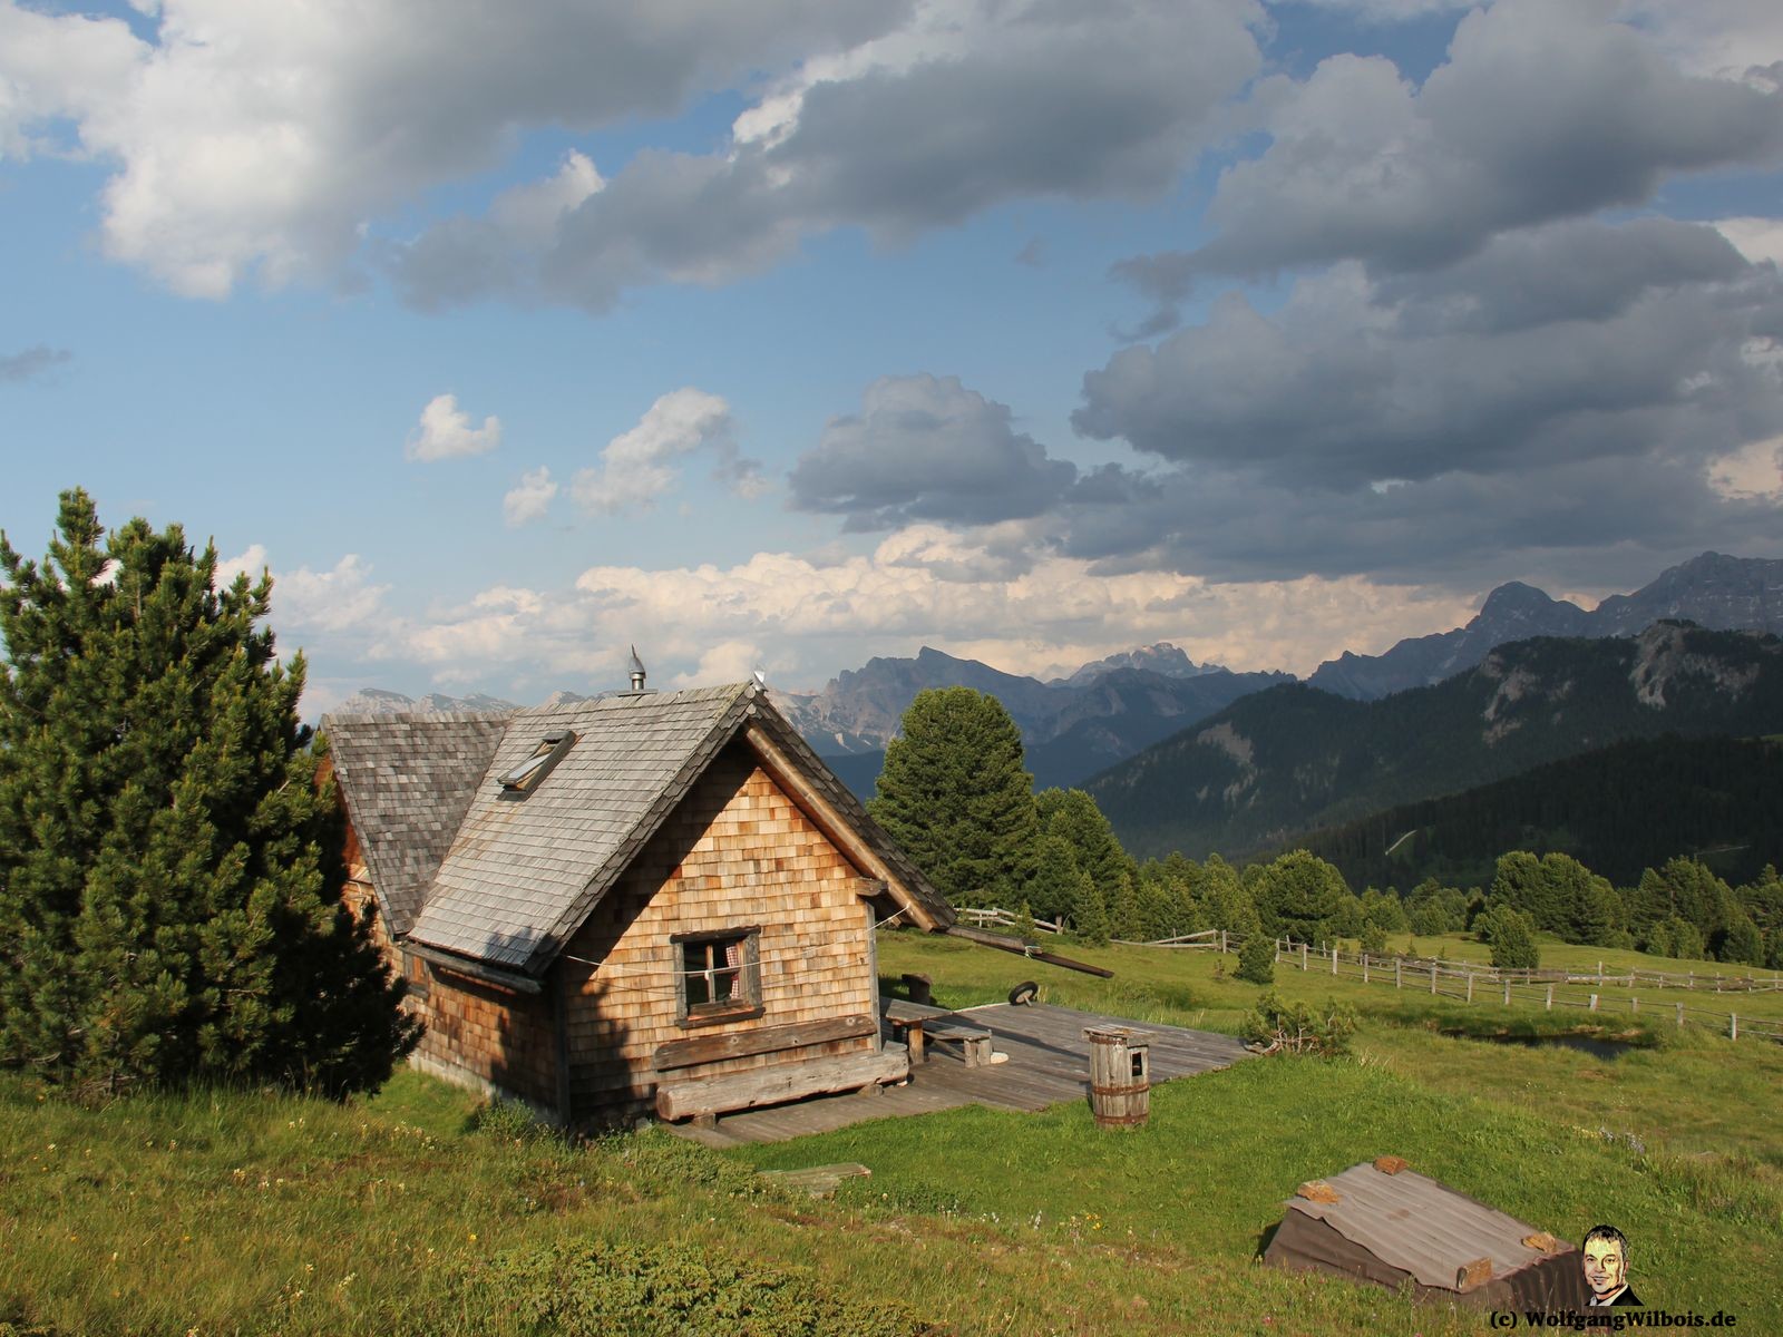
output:
<instances>
[{"instance_id":1,"label":"sunlit wood-shingled front gable wall of the hut around the window","mask_svg":"<svg viewBox=\"0 0 1783 1337\"><path fill-rule=\"evenodd\" d=\"M576 1120L651 1102L654 1050L667 1041L875 1014L872 911L861 886L859 870L756 765L749 747L731 743L562 957ZM761 927L763 1016L679 1025L679 947L670 934L747 925ZM701 1071L742 1071L877 1045L874 1032Z\"/></svg>"}]
</instances>

